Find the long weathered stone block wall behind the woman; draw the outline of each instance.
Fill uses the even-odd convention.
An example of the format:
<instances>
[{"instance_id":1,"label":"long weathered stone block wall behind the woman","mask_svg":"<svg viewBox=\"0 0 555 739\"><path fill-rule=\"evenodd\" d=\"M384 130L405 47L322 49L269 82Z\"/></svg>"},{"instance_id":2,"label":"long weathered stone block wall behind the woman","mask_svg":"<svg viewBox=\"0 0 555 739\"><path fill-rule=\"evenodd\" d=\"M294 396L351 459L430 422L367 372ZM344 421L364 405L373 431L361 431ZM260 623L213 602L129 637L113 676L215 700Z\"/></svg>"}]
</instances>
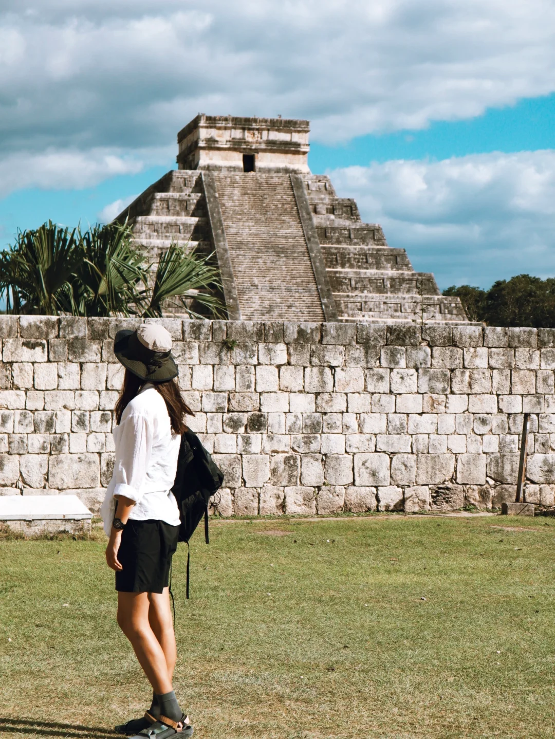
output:
<instances>
[{"instance_id":1,"label":"long weathered stone block wall behind the woman","mask_svg":"<svg viewBox=\"0 0 555 739\"><path fill-rule=\"evenodd\" d=\"M555 330L160 319L231 514L480 508L555 491ZM112 353L135 319L1 316L0 493L78 494L113 463Z\"/></svg>"}]
</instances>

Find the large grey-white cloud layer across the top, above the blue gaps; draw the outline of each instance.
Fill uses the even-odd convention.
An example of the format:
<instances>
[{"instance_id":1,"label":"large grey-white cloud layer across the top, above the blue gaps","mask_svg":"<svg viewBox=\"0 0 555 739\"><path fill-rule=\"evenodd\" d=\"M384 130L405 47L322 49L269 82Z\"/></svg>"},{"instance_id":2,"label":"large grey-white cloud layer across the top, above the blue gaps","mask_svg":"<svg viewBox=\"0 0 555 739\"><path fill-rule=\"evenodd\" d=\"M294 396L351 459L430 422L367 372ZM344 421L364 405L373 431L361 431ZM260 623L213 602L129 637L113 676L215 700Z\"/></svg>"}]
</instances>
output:
<instances>
[{"instance_id":1,"label":"large grey-white cloud layer across the top, above the blue gaps","mask_svg":"<svg viewBox=\"0 0 555 739\"><path fill-rule=\"evenodd\" d=\"M313 138L426 126L555 90L551 0L4 0L0 155L165 146L197 112Z\"/></svg>"}]
</instances>

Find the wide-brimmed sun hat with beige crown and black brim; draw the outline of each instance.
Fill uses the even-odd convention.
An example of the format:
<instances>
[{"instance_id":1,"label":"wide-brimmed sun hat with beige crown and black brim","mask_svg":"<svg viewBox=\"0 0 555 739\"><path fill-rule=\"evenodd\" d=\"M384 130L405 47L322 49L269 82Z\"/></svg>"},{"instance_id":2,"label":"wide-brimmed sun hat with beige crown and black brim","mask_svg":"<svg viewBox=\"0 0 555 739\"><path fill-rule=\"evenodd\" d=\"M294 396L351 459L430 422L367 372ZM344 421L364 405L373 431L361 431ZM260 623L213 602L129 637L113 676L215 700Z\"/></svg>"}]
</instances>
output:
<instances>
[{"instance_id":1,"label":"wide-brimmed sun hat with beige crown and black brim","mask_svg":"<svg viewBox=\"0 0 555 739\"><path fill-rule=\"evenodd\" d=\"M171 336L159 324L141 324L135 331L118 331L114 354L123 367L141 380L167 382L179 375L171 355Z\"/></svg>"}]
</instances>

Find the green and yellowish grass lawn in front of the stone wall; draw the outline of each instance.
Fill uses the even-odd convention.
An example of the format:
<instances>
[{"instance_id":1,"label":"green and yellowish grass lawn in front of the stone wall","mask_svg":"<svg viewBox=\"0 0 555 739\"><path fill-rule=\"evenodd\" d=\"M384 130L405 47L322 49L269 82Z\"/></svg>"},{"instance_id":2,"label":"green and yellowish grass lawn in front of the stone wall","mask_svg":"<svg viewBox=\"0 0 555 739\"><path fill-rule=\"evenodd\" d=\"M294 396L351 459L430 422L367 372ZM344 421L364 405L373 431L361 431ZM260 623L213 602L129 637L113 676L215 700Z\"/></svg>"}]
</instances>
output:
<instances>
[{"instance_id":1,"label":"green and yellowish grass lawn in front of the stone wall","mask_svg":"<svg viewBox=\"0 0 555 739\"><path fill-rule=\"evenodd\" d=\"M0 542L5 736L101 738L149 704L102 537ZM191 554L175 689L199 739L555 736L554 520L214 522Z\"/></svg>"}]
</instances>

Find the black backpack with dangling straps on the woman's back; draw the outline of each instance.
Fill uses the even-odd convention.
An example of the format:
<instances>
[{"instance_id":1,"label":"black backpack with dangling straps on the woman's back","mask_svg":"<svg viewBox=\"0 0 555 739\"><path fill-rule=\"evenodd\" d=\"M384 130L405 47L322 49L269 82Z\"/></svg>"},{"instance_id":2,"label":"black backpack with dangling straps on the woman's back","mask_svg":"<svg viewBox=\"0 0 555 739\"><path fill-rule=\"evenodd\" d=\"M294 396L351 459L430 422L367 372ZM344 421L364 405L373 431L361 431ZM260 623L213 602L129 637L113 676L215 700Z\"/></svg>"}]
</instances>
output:
<instances>
[{"instance_id":1,"label":"black backpack with dangling straps on the woman's back","mask_svg":"<svg viewBox=\"0 0 555 739\"><path fill-rule=\"evenodd\" d=\"M206 451L199 437L192 431L185 431L181 436L177 471L171 492L177 500L180 511L180 533L178 541L185 542L188 548L189 539L204 516L204 536L208 544L208 505L218 488L222 487L223 472ZM189 596L189 562L187 554L187 598Z\"/></svg>"}]
</instances>

